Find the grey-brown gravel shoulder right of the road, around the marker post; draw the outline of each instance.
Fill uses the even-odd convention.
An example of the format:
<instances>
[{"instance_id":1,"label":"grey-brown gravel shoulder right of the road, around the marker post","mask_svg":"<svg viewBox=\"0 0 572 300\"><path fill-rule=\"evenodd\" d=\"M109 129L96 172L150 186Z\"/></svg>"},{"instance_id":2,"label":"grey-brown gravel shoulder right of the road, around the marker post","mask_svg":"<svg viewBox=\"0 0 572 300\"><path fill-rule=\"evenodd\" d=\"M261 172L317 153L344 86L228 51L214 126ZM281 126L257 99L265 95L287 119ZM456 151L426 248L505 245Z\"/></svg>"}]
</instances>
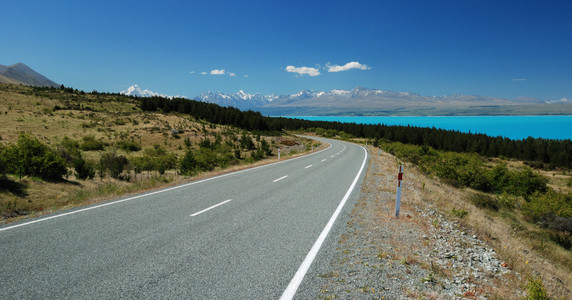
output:
<instances>
[{"instance_id":1,"label":"grey-brown gravel shoulder right of the road, around the marker post","mask_svg":"<svg viewBox=\"0 0 572 300\"><path fill-rule=\"evenodd\" d=\"M318 274L320 299L522 298L519 276L470 230L439 212L433 197L459 191L405 167L395 218L397 161L371 153L359 199L338 235L329 268ZM516 275L516 276L515 276ZM510 289L510 290L509 290Z\"/></svg>"}]
</instances>

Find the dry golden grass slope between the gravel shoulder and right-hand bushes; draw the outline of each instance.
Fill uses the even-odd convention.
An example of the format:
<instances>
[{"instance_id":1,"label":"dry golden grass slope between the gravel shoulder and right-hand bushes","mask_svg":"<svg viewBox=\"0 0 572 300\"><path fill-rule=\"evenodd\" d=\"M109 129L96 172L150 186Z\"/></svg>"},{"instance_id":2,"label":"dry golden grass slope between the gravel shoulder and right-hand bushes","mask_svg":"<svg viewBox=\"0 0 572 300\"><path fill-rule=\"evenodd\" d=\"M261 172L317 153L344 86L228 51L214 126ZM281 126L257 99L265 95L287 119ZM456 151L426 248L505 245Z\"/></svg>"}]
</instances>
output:
<instances>
[{"instance_id":1,"label":"dry golden grass slope between the gravel shoulder and right-hand bushes","mask_svg":"<svg viewBox=\"0 0 572 300\"><path fill-rule=\"evenodd\" d=\"M507 164L509 169L518 170L524 164L521 161L489 159L491 167ZM427 175L418 170L418 166L407 163L409 173L415 173L418 178L415 184L423 191L424 201L435 204L444 215L458 219L461 224L475 231L479 237L492 246L510 268L523 274L520 282L512 284L523 285L526 276L541 278L549 293L555 297L566 297L572 290L572 249L565 249L551 240L554 232L526 221L519 209L500 207L497 210L479 208L472 202L472 196L479 193L470 188L454 188L446 181ZM548 179L548 186L559 193L570 193L572 180L570 173L565 170L544 171L536 170L538 174ZM427 183L427 186L426 186ZM446 190L454 195L446 195ZM497 199L500 196L492 196ZM519 207L524 200L513 198ZM462 212L462 214L460 214ZM526 276L525 276L526 275ZM504 295L503 297L512 298Z\"/></svg>"}]
</instances>

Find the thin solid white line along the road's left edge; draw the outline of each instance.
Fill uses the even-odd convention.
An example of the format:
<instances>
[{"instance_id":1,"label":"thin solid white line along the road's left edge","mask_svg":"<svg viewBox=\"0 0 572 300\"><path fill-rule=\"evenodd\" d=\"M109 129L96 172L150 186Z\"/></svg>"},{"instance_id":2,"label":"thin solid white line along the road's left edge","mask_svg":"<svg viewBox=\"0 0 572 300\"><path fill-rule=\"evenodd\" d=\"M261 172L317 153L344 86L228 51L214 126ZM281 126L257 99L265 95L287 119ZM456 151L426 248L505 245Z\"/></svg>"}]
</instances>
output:
<instances>
[{"instance_id":1,"label":"thin solid white line along the road's left edge","mask_svg":"<svg viewBox=\"0 0 572 300\"><path fill-rule=\"evenodd\" d=\"M125 198L125 199L115 200L115 201L112 201L112 202L107 202L107 203L103 203L103 204L99 204L99 205L95 205L95 206L90 206L90 207L86 207L86 208L82 208L82 209L70 211L70 212L67 212L67 213L62 213L62 214L58 214L58 215L54 215L54 216L49 216L49 217L45 217L45 218L41 218L41 219L29 221L29 222L24 222L24 223L20 223L20 224L15 224L15 225L8 226L8 227L3 227L3 228L0 228L0 232L5 231L5 230L9 230L9 229L14 229L14 228L26 226L26 225L31 225L31 224L43 222L43 221L47 221L47 220L51 220L51 219L55 219L55 218L60 218L60 217L64 217L64 216L68 216L68 215L72 215L72 214L76 214L76 213L80 213L80 212L84 212L84 211L88 211L88 210L92 210L92 209L96 209L96 208L101 208L101 207L108 206L108 205L114 205L114 204L121 203L121 202L126 202L126 201L131 201L131 200L135 200L135 199L139 199L139 198L143 198L143 197L147 197L147 196L152 196L152 195L156 195L156 194L159 194L159 193L163 193L163 192L168 192L168 191L180 189L180 188L183 188L183 187L187 187L187 186L191 186L191 185L195 185L195 184L199 184L199 183L203 183L203 182L207 182L207 181L211 181L211 180L215 180L215 179L219 179L219 178L223 178L223 177L227 177L227 176L231 176L231 175L236 175L236 174L240 174L240 173L244 173L244 172L250 172L250 171L256 170L256 169L266 168L266 167L269 167L269 166L273 166L273 165L277 165L277 164L281 164L281 163L293 161L293 160L296 160L296 159L300 159L300 158L304 158L304 157L309 157L309 156L312 156L312 155L314 155L314 154L318 154L318 153L320 153L320 152L322 152L322 151L326 151L326 150L328 150L328 149L330 149L330 148L332 148L332 144L330 144L330 146L328 146L328 147L325 148L325 149L322 149L322 150L320 150L320 151L317 151L317 152L314 152L314 153L310 153L310 154L307 154L307 155L303 155L303 156L299 156L299 157L295 157L295 158L291 158L291 159L287 159L287 160L281 160L281 161L278 161L278 162L275 162L275 163L271 163L271 164L267 164L267 165L262 165L262 166L258 166L258 167L254 167L254 168L250 168L250 169L240 170L240 171L236 171L236 172L230 172L230 173L226 173L226 174L219 175L219 176L215 176L215 177L205 178L205 179L199 180L199 181L193 181L193 182L189 182L189 183L177 185L177 186L170 187L170 188L166 188L166 189L163 189L163 190L158 190L158 191L154 191L154 192L150 192L150 193L146 193L146 194L141 194L141 195L137 195L137 196Z\"/></svg>"}]
</instances>

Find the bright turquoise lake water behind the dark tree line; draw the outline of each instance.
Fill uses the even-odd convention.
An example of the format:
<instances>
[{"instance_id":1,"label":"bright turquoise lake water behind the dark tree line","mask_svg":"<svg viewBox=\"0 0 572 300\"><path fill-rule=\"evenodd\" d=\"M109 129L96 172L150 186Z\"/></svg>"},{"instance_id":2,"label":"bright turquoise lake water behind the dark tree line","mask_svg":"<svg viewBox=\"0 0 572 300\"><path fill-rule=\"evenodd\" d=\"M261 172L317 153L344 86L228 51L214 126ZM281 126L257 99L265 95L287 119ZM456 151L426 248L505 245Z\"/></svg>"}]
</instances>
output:
<instances>
[{"instance_id":1,"label":"bright turquoise lake water behind the dark tree line","mask_svg":"<svg viewBox=\"0 0 572 300\"><path fill-rule=\"evenodd\" d=\"M293 117L304 120L338 121L358 124L411 125L461 132L484 133L510 139L529 136L545 139L572 139L572 116L474 116L474 117Z\"/></svg>"}]
</instances>

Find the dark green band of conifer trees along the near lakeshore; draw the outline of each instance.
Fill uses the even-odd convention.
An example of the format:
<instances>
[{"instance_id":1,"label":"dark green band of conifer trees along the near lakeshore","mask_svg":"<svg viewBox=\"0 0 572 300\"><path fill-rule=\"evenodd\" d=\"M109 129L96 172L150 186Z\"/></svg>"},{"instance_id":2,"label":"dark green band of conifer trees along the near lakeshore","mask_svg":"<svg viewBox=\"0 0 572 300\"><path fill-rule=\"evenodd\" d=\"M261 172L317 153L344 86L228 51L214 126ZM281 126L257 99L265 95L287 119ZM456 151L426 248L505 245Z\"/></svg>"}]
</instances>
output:
<instances>
[{"instance_id":1,"label":"dark green band of conifer trees along the near lakeshore","mask_svg":"<svg viewBox=\"0 0 572 300\"><path fill-rule=\"evenodd\" d=\"M327 121L308 121L283 117L265 117L259 112L240 111L184 98L139 98L144 111L178 112L212 123L231 125L250 131L310 130L321 128L345 132L354 137L427 145L434 149L478 153L488 157L507 157L534 162L534 166L572 168L572 141L528 137L512 140L485 134L463 133L437 128L415 126L364 125Z\"/></svg>"}]
</instances>

